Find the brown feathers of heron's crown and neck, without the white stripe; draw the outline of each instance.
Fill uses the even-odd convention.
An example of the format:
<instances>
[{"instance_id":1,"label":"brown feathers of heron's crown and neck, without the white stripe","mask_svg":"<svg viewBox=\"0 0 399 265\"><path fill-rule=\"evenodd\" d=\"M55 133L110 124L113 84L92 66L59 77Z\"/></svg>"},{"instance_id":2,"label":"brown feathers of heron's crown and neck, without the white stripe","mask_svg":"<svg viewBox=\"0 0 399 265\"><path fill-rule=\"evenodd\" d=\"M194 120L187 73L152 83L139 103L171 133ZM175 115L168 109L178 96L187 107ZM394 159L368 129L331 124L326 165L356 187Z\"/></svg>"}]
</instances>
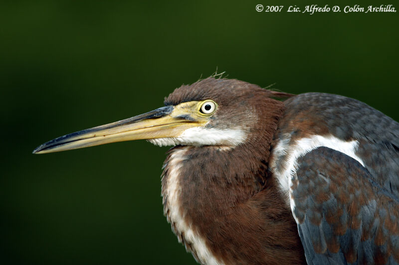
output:
<instances>
[{"instance_id":1,"label":"brown feathers of heron's crown and neck, without the white stripe","mask_svg":"<svg viewBox=\"0 0 399 265\"><path fill-rule=\"evenodd\" d=\"M271 140L284 110L284 104L273 96L289 94L210 78L191 87L182 86L165 100L166 105L175 105L210 98L219 104L213 126L231 127L233 123L248 132L244 144L228 151L218 146L172 148L162 179L165 197L168 160L176 150L186 149L187 160L179 179L181 211L185 221L193 223L205 238L213 255L225 264L305 263L296 223L267 172ZM168 215L168 200L164 201ZM190 242L177 236L193 251Z\"/></svg>"}]
</instances>

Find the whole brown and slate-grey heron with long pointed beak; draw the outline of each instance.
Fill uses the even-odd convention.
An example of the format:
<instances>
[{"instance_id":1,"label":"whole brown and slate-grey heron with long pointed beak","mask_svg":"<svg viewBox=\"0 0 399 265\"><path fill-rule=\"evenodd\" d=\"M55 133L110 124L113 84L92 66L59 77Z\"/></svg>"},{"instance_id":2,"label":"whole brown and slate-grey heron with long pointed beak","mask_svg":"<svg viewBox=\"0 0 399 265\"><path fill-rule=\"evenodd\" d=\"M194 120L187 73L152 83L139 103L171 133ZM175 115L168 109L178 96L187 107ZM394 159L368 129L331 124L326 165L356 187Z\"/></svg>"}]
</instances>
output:
<instances>
[{"instance_id":1,"label":"whole brown and slate-grey heron with long pointed beak","mask_svg":"<svg viewBox=\"0 0 399 265\"><path fill-rule=\"evenodd\" d=\"M215 77L164 103L33 153L172 146L164 214L200 264L399 264L398 122L345 96Z\"/></svg>"}]
</instances>

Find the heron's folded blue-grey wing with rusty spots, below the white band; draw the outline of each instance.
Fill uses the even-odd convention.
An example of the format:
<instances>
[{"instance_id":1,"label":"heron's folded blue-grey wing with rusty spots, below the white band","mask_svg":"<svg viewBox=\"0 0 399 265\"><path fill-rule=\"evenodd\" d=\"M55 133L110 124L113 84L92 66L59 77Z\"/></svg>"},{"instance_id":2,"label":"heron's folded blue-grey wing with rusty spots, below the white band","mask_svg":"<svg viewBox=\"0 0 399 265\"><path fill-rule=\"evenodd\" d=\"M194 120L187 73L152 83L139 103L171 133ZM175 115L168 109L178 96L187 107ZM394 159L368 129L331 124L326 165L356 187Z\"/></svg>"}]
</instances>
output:
<instances>
[{"instance_id":1,"label":"heron's folded blue-grey wing with rusty spots, below the white band","mask_svg":"<svg viewBox=\"0 0 399 265\"><path fill-rule=\"evenodd\" d=\"M290 204L308 264L399 264L399 199L333 149L297 162Z\"/></svg>"}]
</instances>

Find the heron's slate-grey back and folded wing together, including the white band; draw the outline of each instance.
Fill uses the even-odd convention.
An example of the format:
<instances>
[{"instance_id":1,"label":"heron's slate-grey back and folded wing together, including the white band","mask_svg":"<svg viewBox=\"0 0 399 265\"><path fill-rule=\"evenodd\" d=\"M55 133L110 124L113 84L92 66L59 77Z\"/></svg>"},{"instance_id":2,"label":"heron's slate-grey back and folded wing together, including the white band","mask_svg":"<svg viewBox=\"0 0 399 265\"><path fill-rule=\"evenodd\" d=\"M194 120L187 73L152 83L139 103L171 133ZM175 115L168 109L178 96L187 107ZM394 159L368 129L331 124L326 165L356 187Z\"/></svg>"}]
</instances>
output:
<instances>
[{"instance_id":1,"label":"heron's slate-grey back and folded wing together, including the white band","mask_svg":"<svg viewBox=\"0 0 399 265\"><path fill-rule=\"evenodd\" d=\"M284 101L270 171L308 264L399 264L399 124L358 100Z\"/></svg>"}]
</instances>

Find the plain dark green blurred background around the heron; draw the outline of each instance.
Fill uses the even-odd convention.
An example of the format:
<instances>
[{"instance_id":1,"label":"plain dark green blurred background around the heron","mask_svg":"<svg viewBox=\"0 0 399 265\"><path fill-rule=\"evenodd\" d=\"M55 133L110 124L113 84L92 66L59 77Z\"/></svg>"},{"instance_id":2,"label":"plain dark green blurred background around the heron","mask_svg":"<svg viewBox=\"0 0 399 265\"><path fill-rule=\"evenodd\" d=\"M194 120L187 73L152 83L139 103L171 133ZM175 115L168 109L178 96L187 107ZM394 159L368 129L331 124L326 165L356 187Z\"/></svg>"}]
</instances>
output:
<instances>
[{"instance_id":1,"label":"plain dark green blurred background around the heron","mask_svg":"<svg viewBox=\"0 0 399 265\"><path fill-rule=\"evenodd\" d=\"M1 264L195 264L163 216L168 148L31 151L160 107L216 67L261 87L355 97L399 119L398 12L258 13L257 3L353 4L1 2Z\"/></svg>"}]
</instances>

